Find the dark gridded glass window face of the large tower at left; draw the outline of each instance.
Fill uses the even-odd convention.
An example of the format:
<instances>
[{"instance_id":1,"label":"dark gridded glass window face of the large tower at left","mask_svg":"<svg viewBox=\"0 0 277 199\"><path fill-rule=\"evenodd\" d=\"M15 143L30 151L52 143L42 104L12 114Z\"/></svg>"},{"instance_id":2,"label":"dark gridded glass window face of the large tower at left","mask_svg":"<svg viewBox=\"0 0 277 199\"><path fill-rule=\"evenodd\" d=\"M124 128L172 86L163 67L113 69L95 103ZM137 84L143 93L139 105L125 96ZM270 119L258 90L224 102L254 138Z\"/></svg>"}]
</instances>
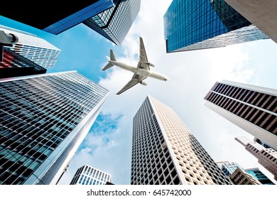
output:
<instances>
[{"instance_id":1,"label":"dark gridded glass window face of the large tower at left","mask_svg":"<svg viewBox=\"0 0 277 199\"><path fill-rule=\"evenodd\" d=\"M23 183L57 149L108 92L93 87L77 72L1 82L0 183Z\"/></svg>"}]
</instances>

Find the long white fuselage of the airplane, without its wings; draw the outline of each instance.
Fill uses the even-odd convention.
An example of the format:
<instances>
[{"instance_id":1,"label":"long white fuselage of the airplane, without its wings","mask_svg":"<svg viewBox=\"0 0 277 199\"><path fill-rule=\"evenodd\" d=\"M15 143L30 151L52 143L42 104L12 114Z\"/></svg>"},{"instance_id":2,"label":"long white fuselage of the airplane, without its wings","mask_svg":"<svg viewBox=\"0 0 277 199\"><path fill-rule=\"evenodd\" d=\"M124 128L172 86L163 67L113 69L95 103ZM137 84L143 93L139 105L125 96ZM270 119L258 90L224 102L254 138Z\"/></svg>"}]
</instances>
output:
<instances>
[{"instance_id":1,"label":"long white fuselage of the airplane, without its wings","mask_svg":"<svg viewBox=\"0 0 277 199\"><path fill-rule=\"evenodd\" d=\"M134 66L126 65L125 63L112 61L112 60L109 60L109 63L112 63L112 64L116 65L117 67L122 68L124 70L129 70L131 72L134 72L136 75L141 75L143 77L153 77L155 79L163 80L163 81L168 81L169 80L169 78L166 77L165 75L163 75L161 73L158 73L158 72L151 71L151 70L136 68Z\"/></svg>"}]
</instances>

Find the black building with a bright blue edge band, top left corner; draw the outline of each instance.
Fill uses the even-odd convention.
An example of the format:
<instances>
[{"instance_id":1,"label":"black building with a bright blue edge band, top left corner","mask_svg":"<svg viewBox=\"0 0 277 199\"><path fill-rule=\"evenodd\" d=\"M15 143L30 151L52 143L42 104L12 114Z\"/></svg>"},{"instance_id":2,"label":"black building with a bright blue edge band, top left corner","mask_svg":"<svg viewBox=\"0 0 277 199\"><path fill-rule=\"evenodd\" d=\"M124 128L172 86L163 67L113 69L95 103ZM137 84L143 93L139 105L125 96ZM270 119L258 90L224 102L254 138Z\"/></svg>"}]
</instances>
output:
<instances>
[{"instance_id":1,"label":"black building with a bright blue edge band, top left corner","mask_svg":"<svg viewBox=\"0 0 277 199\"><path fill-rule=\"evenodd\" d=\"M32 1L18 1L13 6L1 6L0 15L57 35L111 8L114 2L116 0L70 1L65 5L48 0L33 9ZM50 17L45 17L49 14Z\"/></svg>"}]
</instances>

